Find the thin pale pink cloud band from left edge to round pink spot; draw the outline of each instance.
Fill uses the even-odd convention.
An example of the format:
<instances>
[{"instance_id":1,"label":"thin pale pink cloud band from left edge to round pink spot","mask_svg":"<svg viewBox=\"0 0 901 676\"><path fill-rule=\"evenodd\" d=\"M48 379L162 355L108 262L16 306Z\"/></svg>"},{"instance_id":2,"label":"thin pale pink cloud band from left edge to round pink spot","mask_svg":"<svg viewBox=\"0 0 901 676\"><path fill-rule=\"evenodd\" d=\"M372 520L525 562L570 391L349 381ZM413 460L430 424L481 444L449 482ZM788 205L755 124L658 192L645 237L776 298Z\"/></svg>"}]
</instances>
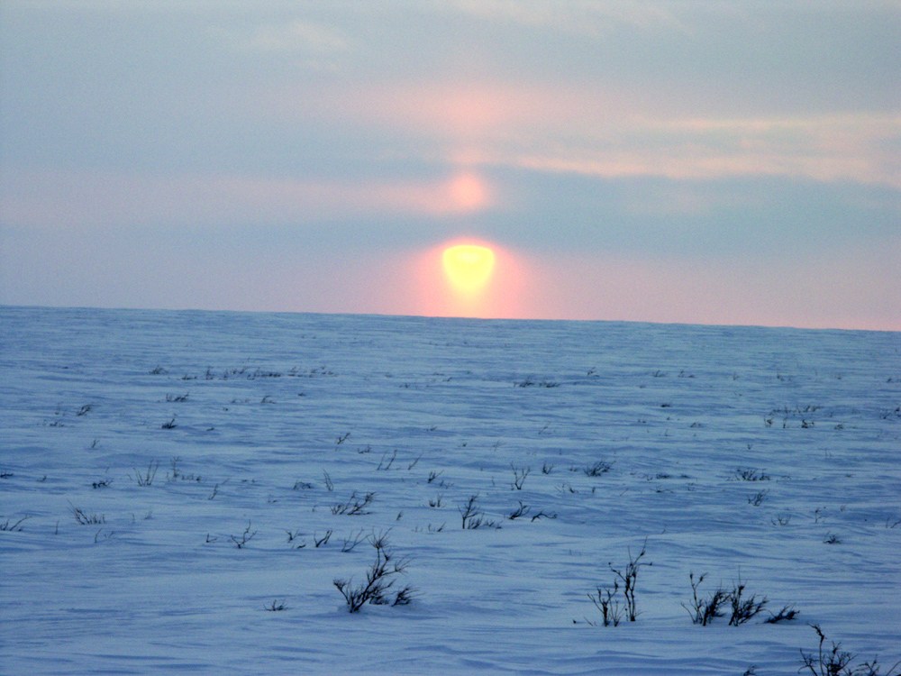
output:
<instances>
[{"instance_id":1,"label":"thin pale pink cloud band from left edge to round pink spot","mask_svg":"<svg viewBox=\"0 0 901 676\"><path fill-rule=\"evenodd\" d=\"M5 224L36 228L187 223L323 224L385 215L465 215L496 204L474 172L423 180L300 180L259 176L147 176L27 171L0 184Z\"/></svg>"}]
</instances>

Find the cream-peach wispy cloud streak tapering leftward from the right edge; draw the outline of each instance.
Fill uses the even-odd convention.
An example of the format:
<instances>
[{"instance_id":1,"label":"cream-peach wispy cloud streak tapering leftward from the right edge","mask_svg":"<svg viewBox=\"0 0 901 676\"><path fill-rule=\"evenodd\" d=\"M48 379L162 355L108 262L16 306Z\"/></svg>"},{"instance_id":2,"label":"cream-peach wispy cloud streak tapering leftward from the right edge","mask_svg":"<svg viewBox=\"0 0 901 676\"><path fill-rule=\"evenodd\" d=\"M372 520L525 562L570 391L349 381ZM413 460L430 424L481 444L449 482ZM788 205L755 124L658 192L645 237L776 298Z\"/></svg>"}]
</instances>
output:
<instances>
[{"instance_id":1,"label":"cream-peach wispy cloud streak tapering leftward from the right edge","mask_svg":"<svg viewBox=\"0 0 901 676\"><path fill-rule=\"evenodd\" d=\"M901 187L893 151L901 116L638 120L620 132L597 138L587 131L578 144L513 151L494 161L603 178L778 176Z\"/></svg>"}]
</instances>

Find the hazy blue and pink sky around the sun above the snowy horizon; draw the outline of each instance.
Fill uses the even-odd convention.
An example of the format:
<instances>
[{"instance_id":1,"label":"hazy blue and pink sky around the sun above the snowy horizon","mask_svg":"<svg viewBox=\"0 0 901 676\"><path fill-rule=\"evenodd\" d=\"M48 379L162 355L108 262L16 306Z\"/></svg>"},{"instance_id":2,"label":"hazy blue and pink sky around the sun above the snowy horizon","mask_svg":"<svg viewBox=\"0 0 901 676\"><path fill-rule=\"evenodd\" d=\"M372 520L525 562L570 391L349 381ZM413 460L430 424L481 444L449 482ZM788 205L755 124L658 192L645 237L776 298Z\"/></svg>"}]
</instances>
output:
<instances>
[{"instance_id":1,"label":"hazy blue and pink sky around the sun above the snowy horizon","mask_svg":"<svg viewBox=\"0 0 901 676\"><path fill-rule=\"evenodd\" d=\"M899 73L899 2L3 0L0 304L898 331Z\"/></svg>"}]
</instances>

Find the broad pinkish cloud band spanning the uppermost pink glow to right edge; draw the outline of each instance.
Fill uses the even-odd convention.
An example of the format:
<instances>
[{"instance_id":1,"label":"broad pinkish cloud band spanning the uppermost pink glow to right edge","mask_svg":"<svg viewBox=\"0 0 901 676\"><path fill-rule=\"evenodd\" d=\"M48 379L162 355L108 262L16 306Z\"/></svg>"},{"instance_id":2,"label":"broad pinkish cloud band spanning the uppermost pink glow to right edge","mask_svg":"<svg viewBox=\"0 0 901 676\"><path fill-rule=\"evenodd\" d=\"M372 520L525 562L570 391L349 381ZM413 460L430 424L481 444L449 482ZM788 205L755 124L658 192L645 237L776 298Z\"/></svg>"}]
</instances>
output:
<instances>
[{"instance_id":1,"label":"broad pinkish cloud band spanning the uppermost pink glow to right edge","mask_svg":"<svg viewBox=\"0 0 901 676\"><path fill-rule=\"evenodd\" d=\"M281 90L267 98L268 114L280 110L297 121L338 115L372 134L405 135L398 152L438 149L432 160L452 164L598 178L778 176L901 187L898 114L651 115L624 90L510 82L363 86L314 99Z\"/></svg>"}]
</instances>

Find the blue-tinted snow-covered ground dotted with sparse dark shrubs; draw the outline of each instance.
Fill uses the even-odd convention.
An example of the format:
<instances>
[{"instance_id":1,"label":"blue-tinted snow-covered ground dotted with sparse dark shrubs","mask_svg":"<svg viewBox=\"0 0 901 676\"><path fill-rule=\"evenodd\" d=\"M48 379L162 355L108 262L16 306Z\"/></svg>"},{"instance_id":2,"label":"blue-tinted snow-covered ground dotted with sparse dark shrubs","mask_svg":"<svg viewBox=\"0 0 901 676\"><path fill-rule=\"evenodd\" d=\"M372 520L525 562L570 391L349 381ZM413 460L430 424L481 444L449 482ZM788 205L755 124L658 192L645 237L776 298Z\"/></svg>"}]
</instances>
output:
<instances>
[{"instance_id":1,"label":"blue-tinted snow-covered ground dotted with sparse dark shrubs","mask_svg":"<svg viewBox=\"0 0 901 676\"><path fill-rule=\"evenodd\" d=\"M808 623L901 659L901 334L3 307L0 341L4 674L762 676ZM413 601L350 613L381 534ZM694 625L691 572L769 604Z\"/></svg>"}]
</instances>

